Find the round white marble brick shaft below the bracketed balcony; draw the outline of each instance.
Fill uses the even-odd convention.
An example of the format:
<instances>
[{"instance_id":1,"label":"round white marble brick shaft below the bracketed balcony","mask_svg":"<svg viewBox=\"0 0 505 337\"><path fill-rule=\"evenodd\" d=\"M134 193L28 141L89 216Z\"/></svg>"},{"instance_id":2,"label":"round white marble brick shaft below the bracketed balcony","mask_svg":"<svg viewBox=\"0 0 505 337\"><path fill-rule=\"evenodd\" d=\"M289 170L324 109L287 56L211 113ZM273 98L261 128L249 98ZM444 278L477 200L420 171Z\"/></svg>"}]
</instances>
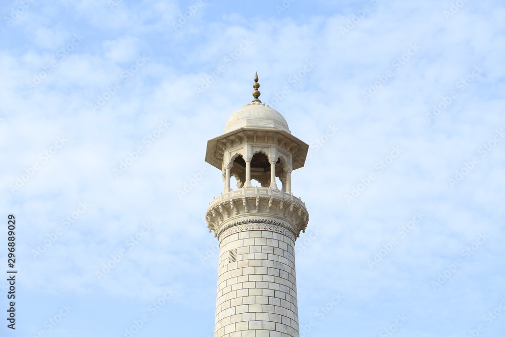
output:
<instances>
[{"instance_id":1,"label":"round white marble brick shaft below the bracketed balcony","mask_svg":"<svg viewBox=\"0 0 505 337\"><path fill-rule=\"evenodd\" d=\"M220 235L214 336L299 337L295 237L254 225L265 230Z\"/></svg>"}]
</instances>

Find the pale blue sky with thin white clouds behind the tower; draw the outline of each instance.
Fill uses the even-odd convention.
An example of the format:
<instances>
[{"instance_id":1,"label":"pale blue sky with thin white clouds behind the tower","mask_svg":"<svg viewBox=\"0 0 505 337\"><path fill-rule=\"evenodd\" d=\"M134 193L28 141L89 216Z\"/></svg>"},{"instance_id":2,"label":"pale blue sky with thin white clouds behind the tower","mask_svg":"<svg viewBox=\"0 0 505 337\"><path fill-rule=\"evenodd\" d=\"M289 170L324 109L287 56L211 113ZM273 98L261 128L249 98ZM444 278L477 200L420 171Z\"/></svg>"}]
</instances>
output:
<instances>
[{"instance_id":1,"label":"pale blue sky with thin white clouds behind the tower","mask_svg":"<svg viewBox=\"0 0 505 337\"><path fill-rule=\"evenodd\" d=\"M0 14L3 336L213 336L205 213L223 181L205 151L255 72L310 145L292 175L310 214L300 335L503 336L503 2L17 0Z\"/></svg>"}]
</instances>

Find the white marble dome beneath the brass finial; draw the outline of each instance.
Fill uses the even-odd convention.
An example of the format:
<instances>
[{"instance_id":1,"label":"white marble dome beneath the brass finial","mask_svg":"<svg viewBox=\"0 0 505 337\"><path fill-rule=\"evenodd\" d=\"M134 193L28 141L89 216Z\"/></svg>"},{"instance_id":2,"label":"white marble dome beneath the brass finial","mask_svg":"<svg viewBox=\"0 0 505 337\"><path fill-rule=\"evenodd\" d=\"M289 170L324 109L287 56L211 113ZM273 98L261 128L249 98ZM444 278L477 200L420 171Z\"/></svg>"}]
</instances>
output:
<instances>
[{"instance_id":1,"label":"white marble dome beneath the brass finial","mask_svg":"<svg viewBox=\"0 0 505 337\"><path fill-rule=\"evenodd\" d=\"M224 132L228 133L241 127L277 129L291 133L286 120L277 110L259 102L253 102L235 111L228 118Z\"/></svg>"}]
</instances>

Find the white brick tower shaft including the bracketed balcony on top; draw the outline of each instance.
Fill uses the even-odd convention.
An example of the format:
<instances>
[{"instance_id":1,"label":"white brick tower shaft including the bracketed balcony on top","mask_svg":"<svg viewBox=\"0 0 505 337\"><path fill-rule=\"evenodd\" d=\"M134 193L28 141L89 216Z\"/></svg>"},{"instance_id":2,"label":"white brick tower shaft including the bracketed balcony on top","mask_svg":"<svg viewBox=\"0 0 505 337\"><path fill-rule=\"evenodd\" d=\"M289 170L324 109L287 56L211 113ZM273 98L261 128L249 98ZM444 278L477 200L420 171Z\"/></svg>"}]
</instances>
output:
<instances>
[{"instance_id":1,"label":"white brick tower shaft including the bracketed balcony on top","mask_svg":"<svg viewBox=\"0 0 505 337\"><path fill-rule=\"evenodd\" d=\"M294 245L305 204L271 188L213 201L208 228L219 240L214 337L300 337Z\"/></svg>"}]
</instances>

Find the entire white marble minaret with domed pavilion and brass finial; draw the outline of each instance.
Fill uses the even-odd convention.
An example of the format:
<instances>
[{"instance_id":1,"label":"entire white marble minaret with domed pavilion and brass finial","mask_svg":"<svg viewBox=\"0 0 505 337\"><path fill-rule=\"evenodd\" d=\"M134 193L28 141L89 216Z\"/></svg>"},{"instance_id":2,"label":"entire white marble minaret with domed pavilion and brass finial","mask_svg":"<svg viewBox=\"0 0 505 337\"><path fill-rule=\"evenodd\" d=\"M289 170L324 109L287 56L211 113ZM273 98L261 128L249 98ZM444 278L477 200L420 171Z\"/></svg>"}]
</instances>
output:
<instances>
[{"instance_id":1,"label":"entire white marble minaret with domed pavilion and brass finial","mask_svg":"<svg viewBox=\"0 0 505 337\"><path fill-rule=\"evenodd\" d=\"M252 87L254 100L207 143L205 160L224 180L205 216L219 240L214 336L299 337L294 244L309 214L291 192L291 171L304 166L309 146L261 103L258 74Z\"/></svg>"}]
</instances>

